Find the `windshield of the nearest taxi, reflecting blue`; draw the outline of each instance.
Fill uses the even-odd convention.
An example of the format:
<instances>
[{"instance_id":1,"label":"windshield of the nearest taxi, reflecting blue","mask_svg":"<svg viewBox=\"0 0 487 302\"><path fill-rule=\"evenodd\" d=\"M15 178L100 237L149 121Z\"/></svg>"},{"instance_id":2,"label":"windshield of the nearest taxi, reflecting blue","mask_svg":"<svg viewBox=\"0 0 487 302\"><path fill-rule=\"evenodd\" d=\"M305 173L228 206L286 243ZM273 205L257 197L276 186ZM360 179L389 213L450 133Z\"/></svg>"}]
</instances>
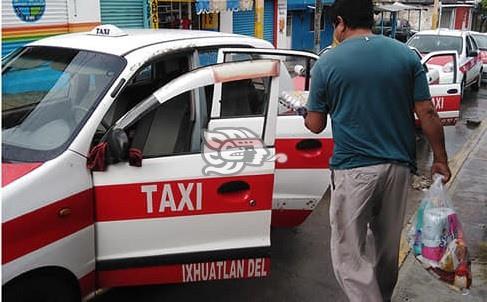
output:
<instances>
[{"instance_id":1,"label":"windshield of the nearest taxi, reflecting blue","mask_svg":"<svg viewBox=\"0 0 487 302\"><path fill-rule=\"evenodd\" d=\"M84 50L26 47L2 65L2 161L63 152L125 67Z\"/></svg>"}]
</instances>

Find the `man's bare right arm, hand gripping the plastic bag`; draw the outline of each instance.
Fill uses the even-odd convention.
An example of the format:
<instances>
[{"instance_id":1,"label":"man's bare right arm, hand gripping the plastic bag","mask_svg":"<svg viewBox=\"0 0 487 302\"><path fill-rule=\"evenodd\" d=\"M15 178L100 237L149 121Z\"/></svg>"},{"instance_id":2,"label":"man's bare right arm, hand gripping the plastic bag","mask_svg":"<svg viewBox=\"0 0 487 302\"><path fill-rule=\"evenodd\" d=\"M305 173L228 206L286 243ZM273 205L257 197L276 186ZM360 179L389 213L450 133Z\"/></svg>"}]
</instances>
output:
<instances>
[{"instance_id":1,"label":"man's bare right arm, hand gripping the plastic bag","mask_svg":"<svg viewBox=\"0 0 487 302\"><path fill-rule=\"evenodd\" d=\"M445 135L438 113L436 113L435 107L430 100L415 102L414 111L421 122L423 133L433 149L431 174L438 173L443 175L443 182L447 183L450 180L451 172L448 167L448 156L445 150Z\"/></svg>"}]
</instances>

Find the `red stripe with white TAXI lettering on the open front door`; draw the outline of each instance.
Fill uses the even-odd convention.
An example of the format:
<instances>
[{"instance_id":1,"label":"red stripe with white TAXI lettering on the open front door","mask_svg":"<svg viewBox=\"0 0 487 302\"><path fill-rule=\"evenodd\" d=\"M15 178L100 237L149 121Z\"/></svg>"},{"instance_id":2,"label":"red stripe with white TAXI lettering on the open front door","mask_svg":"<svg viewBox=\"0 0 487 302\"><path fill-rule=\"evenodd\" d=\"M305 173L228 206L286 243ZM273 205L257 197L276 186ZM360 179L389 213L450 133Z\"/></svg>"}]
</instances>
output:
<instances>
[{"instance_id":1,"label":"red stripe with white TAXI lettering on the open front door","mask_svg":"<svg viewBox=\"0 0 487 302\"><path fill-rule=\"evenodd\" d=\"M270 210L274 175L95 187L97 221Z\"/></svg>"}]
</instances>

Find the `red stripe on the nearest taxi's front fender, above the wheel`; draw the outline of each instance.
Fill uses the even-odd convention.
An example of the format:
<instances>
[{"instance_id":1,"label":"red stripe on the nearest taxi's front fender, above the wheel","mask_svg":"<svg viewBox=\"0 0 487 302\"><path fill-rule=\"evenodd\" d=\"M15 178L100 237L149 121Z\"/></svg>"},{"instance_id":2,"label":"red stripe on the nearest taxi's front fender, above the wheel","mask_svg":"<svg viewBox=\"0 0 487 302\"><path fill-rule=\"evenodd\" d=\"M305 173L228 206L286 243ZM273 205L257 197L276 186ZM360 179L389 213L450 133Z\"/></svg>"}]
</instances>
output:
<instances>
[{"instance_id":1,"label":"red stripe on the nearest taxi's front fender, above the wheel","mask_svg":"<svg viewBox=\"0 0 487 302\"><path fill-rule=\"evenodd\" d=\"M2 224L2 264L93 224L93 192L86 190Z\"/></svg>"}]
</instances>

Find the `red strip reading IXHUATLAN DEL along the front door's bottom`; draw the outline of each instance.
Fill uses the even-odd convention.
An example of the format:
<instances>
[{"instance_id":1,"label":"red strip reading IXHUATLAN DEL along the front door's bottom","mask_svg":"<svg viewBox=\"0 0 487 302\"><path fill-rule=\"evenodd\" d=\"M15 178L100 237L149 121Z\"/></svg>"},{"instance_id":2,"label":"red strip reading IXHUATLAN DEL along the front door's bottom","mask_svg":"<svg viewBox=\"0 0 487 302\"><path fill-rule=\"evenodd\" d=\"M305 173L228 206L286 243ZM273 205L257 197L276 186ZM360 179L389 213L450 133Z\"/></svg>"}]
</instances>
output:
<instances>
[{"instance_id":1,"label":"red strip reading IXHUATLAN DEL along the front door's bottom","mask_svg":"<svg viewBox=\"0 0 487 302\"><path fill-rule=\"evenodd\" d=\"M255 258L107 270L98 272L98 286L261 278L270 275L270 267L270 258Z\"/></svg>"}]
</instances>

